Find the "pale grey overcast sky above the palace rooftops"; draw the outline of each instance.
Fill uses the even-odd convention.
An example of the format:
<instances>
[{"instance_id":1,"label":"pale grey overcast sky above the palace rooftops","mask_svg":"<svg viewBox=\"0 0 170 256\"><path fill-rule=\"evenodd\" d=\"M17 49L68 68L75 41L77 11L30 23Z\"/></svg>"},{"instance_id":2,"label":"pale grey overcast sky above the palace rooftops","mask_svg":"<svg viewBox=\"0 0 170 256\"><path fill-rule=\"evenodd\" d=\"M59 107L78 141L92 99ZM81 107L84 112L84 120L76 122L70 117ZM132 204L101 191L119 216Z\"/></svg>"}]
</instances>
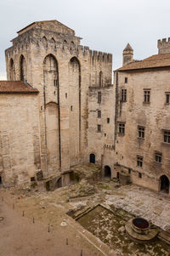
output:
<instances>
[{"instance_id":1,"label":"pale grey overcast sky above the palace rooftops","mask_svg":"<svg viewBox=\"0 0 170 256\"><path fill-rule=\"evenodd\" d=\"M127 43L142 60L157 54L157 39L170 37L169 0L0 0L0 79L6 76L4 50L16 31L54 19L74 29L82 45L113 54L113 69L122 65Z\"/></svg>"}]
</instances>

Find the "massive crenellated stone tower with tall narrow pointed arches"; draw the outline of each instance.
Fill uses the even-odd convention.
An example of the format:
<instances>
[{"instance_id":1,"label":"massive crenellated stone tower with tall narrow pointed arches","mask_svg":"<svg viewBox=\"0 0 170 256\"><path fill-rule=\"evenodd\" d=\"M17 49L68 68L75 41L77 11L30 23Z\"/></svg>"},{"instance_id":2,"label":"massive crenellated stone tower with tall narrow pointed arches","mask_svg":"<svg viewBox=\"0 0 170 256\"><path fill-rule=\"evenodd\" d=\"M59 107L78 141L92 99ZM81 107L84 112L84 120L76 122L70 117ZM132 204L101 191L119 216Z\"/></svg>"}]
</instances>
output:
<instances>
[{"instance_id":1,"label":"massive crenellated stone tower with tall narrow pointed arches","mask_svg":"<svg viewBox=\"0 0 170 256\"><path fill-rule=\"evenodd\" d=\"M81 46L81 39L57 20L37 21L18 31L5 52L8 80L40 92L44 173L88 161L88 87L111 83L112 55Z\"/></svg>"}]
</instances>

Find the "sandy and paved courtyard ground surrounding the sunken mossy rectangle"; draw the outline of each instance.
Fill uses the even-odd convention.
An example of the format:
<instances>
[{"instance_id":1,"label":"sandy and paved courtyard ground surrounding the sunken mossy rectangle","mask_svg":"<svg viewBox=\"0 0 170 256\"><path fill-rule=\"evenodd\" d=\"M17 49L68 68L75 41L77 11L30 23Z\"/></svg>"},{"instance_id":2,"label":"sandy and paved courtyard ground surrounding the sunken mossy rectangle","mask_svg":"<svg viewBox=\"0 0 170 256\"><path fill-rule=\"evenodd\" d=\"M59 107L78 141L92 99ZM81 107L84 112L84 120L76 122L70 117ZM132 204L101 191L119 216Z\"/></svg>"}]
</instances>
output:
<instances>
[{"instance_id":1,"label":"sandy and paved courtyard ground surrounding the sunken mossy rectangle","mask_svg":"<svg viewBox=\"0 0 170 256\"><path fill-rule=\"evenodd\" d=\"M81 256L81 250L82 256L122 255L65 214L79 214L97 204L122 208L164 230L168 230L170 224L167 196L136 185L119 187L114 181L89 185L82 180L79 184L46 192L13 188L1 190L0 196L0 217L4 218L0 221L0 255L4 256ZM162 251L155 255L169 256L170 253Z\"/></svg>"}]
</instances>

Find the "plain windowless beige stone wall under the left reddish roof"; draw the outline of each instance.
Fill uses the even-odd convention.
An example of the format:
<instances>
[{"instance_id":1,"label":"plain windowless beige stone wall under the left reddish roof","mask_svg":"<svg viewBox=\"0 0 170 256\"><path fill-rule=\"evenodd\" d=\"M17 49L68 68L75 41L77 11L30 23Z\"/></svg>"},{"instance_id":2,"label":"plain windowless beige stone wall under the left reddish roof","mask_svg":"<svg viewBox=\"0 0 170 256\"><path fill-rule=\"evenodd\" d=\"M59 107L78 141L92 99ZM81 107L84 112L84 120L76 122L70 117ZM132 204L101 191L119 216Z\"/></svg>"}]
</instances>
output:
<instances>
[{"instance_id":1,"label":"plain windowless beige stone wall under the left reddish roof","mask_svg":"<svg viewBox=\"0 0 170 256\"><path fill-rule=\"evenodd\" d=\"M0 105L3 186L30 182L41 168L37 94L0 94Z\"/></svg>"}]
</instances>

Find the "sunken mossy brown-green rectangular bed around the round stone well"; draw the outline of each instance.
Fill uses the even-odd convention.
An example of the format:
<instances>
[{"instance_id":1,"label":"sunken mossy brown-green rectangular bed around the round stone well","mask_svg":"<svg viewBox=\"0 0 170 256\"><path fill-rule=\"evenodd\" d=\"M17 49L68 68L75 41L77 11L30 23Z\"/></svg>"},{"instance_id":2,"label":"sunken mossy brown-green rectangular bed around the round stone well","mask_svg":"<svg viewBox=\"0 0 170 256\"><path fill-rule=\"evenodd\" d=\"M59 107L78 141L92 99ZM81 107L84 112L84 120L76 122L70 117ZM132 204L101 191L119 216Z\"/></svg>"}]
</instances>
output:
<instances>
[{"instance_id":1,"label":"sunken mossy brown-green rectangular bed around the round stone well","mask_svg":"<svg viewBox=\"0 0 170 256\"><path fill-rule=\"evenodd\" d=\"M117 256L170 256L170 246L158 238L149 244L132 242L126 235L124 226L133 215L122 209L112 208L112 211L98 205L77 219L77 222L114 249Z\"/></svg>"}]
</instances>

